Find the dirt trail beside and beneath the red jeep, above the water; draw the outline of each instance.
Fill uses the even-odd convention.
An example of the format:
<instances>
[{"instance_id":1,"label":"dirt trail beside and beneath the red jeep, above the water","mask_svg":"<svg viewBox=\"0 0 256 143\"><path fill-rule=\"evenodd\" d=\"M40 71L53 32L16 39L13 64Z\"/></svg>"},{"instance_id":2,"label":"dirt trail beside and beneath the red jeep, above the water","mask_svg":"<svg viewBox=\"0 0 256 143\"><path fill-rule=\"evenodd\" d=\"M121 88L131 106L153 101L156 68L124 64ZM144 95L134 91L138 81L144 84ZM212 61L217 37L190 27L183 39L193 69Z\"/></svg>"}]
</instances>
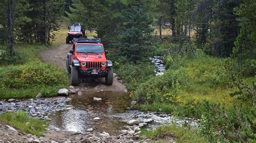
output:
<instances>
[{"instance_id":1,"label":"dirt trail beside and beneath the red jeep, above the water","mask_svg":"<svg viewBox=\"0 0 256 143\"><path fill-rule=\"evenodd\" d=\"M46 61L53 63L53 65L59 66L60 68L66 68L66 55L70 51L72 44L62 44L58 47L49 48L41 52L41 58ZM126 90L125 85L120 83L116 78L114 78L113 84L108 86L105 85L105 79L99 78L96 82L85 83L82 82L75 88L78 91L120 91L124 92Z\"/></svg>"}]
</instances>

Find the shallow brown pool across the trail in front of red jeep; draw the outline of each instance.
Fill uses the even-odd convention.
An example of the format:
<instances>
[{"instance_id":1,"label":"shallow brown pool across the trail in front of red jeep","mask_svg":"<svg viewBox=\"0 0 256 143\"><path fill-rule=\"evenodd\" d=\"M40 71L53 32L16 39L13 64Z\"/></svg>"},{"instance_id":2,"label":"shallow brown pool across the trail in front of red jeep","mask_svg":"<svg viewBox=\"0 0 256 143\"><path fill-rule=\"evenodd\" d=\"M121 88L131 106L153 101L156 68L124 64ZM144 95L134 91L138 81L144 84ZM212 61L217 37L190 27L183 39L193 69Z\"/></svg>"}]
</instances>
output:
<instances>
[{"instance_id":1,"label":"shallow brown pool across the trail in front of red jeep","mask_svg":"<svg viewBox=\"0 0 256 143\"><path fill-rule=\"evenodd\" d=\"M102 98L102 101L93 101L93 97ZM116 113L126 112L126 108L131 103L128 94L112 91L79 91L71 96L73 109L56 112L51 117L51 124L62 130L86 132L87 128L94 128L96 131L117 134L120 128L125 125ZM99 117L100 120L93 120Z\"/></svg>"}]
</instances>

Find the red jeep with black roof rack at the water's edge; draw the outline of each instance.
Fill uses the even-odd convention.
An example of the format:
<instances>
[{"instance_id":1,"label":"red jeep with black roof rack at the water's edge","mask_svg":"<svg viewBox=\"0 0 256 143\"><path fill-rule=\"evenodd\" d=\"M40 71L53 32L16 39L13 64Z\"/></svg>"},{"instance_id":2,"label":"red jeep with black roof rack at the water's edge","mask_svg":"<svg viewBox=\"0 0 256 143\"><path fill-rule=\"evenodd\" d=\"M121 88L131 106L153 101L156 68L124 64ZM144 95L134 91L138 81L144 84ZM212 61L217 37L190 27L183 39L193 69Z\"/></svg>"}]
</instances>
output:
<instances>
[{"instance_id":1,"label":"red jeep with black roof rack at the water's edge","mask_svg":"<svg viewBox=\"0 0 256 143\"><path fill-rule=\"evenodd\" d=\"M71 74L71 85L77 85L83 78L105 77L107 85L113 83L112 61L106 60L100 39L74 38L73 48L66 59L66 69Z\"/></svg>"}]
</instances>

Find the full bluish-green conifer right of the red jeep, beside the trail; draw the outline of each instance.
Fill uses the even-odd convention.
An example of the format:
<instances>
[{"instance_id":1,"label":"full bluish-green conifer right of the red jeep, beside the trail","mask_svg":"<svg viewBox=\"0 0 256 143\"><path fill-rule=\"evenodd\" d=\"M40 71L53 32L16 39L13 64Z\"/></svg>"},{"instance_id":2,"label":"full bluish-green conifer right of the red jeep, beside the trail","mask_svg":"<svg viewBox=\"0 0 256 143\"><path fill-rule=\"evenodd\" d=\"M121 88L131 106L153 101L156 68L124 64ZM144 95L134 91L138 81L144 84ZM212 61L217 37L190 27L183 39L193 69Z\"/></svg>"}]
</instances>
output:
<instances>
[{"instance_id":1,"label":"full bluish-green conifer right of the red jeep, beside the trail","mask_svg":"<svg viewBox=\"0 0 256 143\"><path fill-rule=\"evenodd\" d=\"M118 55L126 56L130 61L137 61L150 53L150 38L153 32L150 26L153 23L149 12L142 3L128 5L122 12L122 22L119 25L117 37Z\"/></svg>"}]
</instances>

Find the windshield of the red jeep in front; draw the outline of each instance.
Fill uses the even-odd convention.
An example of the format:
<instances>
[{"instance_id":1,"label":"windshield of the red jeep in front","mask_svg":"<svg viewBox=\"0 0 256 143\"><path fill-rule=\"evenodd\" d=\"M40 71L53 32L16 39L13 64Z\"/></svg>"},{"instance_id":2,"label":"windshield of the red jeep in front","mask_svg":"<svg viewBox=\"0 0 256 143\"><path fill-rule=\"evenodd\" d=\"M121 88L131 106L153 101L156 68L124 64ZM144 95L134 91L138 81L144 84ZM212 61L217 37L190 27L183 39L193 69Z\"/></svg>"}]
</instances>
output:
<instances>
[{"instance_id":1,"label":"windshield of the red jeep in front","mask_svg":"<svg viewBox=\"0 0 256 143\"><path fill-rule=\"evenodd\" d=\"M103 53L102 45L77 45L76 47L77 53Z\"/></svg>"}]
</instances>

